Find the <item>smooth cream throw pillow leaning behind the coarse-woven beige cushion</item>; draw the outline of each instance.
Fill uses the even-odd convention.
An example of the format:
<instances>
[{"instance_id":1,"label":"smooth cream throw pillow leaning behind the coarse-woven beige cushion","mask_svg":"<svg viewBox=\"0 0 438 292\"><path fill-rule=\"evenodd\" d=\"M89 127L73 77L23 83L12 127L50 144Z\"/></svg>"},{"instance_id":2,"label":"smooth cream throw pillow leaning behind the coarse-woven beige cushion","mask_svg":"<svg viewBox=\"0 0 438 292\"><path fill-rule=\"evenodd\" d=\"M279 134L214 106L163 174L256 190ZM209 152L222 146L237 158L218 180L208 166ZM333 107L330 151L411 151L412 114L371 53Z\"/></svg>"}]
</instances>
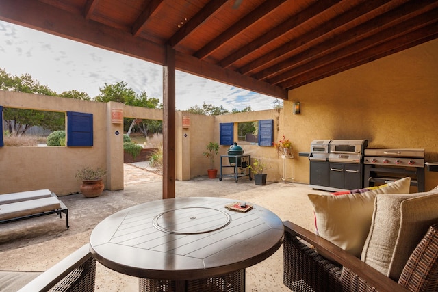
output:
<instances>
[{"instance_id":1,"label":"smooth cream throw pillow leaning behind the coarse-woven beige cushion","mask_svg":"<svg viewBox=\"0 0 438 292\"><path fill-rule=\"evenodd\" d=\"M410 185L411 178L407 177L365 193L309 194L318 234L359 258L370 231L376 195L406 194Z\"/></svg>"}]
</instances>

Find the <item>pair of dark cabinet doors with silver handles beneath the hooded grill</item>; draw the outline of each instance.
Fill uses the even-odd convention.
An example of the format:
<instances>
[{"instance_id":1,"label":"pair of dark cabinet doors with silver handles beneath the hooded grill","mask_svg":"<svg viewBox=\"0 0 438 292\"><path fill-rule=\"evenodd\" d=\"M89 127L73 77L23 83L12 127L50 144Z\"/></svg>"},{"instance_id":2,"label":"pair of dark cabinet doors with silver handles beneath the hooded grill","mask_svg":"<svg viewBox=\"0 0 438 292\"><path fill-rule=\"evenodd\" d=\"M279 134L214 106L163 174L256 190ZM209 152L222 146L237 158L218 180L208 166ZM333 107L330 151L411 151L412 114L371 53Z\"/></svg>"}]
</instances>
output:
<instances>
[{"instance_id":1,"label":"pair of dark cabinet doors with silver handles beneath the hooded grill","mask_svg":"<svg viewBox=\"0 0 438 292\"><path fill-rule=\"evenodd\" d=\"M363 166L361 163L329 163L330 187L335 189L363 188Z\"/></svg>"}]
</instances>

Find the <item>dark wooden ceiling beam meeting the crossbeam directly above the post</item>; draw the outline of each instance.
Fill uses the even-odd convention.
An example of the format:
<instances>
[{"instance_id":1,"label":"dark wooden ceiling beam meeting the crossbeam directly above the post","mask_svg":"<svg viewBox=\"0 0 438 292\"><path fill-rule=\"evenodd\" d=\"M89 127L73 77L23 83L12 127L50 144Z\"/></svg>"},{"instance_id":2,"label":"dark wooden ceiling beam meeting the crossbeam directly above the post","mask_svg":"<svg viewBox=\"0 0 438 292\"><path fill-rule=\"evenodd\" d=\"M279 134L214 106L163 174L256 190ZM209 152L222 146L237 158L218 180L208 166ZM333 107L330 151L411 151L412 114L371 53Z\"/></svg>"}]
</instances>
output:
<instances>
[{"instance_id":1,"label":"dark wooden ceiling beam meeting the crossbeam directly above the post","mask_svg":"<svg viewBox=\"0 0 438 292\"><path fill-rule=\"evenodd\" d=\"M214 16L214 14L216 14L216 12L218 12L218 10L220 10L220 8L227 3L227 1L228 0L209 1L209 3L207 3L203 9L201 9L195 16L185 23L185 25L183 25L181 29L179 29L177 33L168 40L167 44L170 47L175 48L177 44L189 36L192 31L203 25L203 23L205 24L209 18Z\"/></svg>"}]
</instances>

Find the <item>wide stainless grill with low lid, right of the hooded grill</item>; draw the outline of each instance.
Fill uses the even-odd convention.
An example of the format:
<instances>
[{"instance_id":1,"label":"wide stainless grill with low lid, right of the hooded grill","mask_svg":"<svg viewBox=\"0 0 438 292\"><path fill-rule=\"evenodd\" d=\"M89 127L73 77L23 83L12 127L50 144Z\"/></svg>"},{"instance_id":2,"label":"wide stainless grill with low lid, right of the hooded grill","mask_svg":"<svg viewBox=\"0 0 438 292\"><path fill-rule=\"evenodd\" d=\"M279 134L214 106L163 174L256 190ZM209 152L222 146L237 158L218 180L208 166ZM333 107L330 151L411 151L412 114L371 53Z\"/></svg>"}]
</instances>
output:
<instances>
[{"instance_id":1,"label":"wide stainless grill with low lid, right of the hooded grill","mask_svg":"<svg viewBox=\"0 0 438 292\"><path fill-rule=\"evenodd\" d=\"M424 149L365 149L364 185L370 187L411 177L411 185L424 191Z\"/></svg>"}]
</instances>

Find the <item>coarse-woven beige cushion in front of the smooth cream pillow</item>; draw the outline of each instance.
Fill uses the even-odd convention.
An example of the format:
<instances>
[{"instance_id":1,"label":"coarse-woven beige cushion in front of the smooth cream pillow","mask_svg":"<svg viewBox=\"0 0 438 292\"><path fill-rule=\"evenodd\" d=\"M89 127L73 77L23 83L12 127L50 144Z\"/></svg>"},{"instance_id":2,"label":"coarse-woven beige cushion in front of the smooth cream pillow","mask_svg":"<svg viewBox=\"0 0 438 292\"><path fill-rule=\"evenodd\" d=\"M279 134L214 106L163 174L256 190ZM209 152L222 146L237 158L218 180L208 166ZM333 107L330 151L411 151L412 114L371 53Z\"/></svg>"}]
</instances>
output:
<instances>
[{"instance_id":1,"label":"coarse-woven beige cushion in front of the smooth cream pillow","mask_svg":"<svg viewBox=\"0 0 438 292\"><path fill-rule=\"evenodd\" d=\"M438 188L415 194L379 194L361 260L398 280L409 255L438 222Z\"/></svg>"}]
</instances>

